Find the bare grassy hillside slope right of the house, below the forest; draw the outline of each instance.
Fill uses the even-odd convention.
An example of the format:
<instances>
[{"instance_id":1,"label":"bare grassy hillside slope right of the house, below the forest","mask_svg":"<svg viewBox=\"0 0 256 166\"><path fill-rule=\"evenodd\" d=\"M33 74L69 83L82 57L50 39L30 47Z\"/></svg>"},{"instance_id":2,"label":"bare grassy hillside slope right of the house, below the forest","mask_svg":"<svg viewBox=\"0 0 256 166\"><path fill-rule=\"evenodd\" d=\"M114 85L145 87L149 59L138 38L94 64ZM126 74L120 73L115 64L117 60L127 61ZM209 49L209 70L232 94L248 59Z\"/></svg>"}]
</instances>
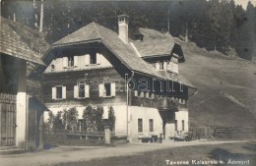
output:
<instances>
[{"instance_id":1,"label":"bare grassy hillside slope right of the house, below the forest","mask_svg":"<svg viewBox=\"0 0 256 166\"><path fill-rule=\"evenodd\" d=\"M192 126L255 126L256 64L177 40L185 55L180 74L198 88L189 99Z\"/></svg>"}]
</instances>

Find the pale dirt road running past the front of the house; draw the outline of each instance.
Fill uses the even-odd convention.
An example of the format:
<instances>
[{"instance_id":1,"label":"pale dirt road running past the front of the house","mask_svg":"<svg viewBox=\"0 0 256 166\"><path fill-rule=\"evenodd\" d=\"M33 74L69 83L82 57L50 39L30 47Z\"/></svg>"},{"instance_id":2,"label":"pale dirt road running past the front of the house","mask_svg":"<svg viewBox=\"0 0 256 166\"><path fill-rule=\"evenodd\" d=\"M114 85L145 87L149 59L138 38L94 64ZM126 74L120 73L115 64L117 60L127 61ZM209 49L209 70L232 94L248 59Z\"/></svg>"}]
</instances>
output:
<instances>
[{"instance_id":1,"label":"pale dirt road running past the front of the house","mask_svg":"<svg viewBox=\"0 0 256 166\"><path fill-rule=\"evenodd\" d=\"M41 166L57 163L88 161L94 158L132 155L139 152L178 146L221 144L238 141L165 141L163 143L129 143L115 147L57 147L50 150L16 155L1 155L1 166ZM240 141L239 141L240 142Z\"/></svg>"}]
</instances>

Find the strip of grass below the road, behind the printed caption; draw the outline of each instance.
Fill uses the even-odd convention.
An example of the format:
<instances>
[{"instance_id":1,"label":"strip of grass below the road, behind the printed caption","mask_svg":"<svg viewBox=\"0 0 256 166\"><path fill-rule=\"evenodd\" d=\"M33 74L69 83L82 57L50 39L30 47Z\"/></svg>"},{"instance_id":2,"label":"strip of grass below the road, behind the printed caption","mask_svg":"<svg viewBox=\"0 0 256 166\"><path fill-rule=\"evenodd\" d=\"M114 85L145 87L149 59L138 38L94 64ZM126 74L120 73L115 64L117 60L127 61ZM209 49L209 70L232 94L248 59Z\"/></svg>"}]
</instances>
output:
<instances>
[{"instance_id":1,"label":"strip of grass below the road, behind the printed caption","mask_svg":"<svg viewBox=\"0 0 256 166\"><path fill-rule=\"evenodd\" d=\"M166 163L168 161L168 164ZM193 160L224 161L224 164L192 164ZM228 164L229 160L229 164ZM248 163L249 160L249 163ZM99 158L90 161L61 163L56 166L164 166L170 162L187 161L189 164L173 165L256 165L256 142L225 143L218 145L197 145L175 147L128 156ZM197 162L196 161L196 162ZM244 163L241 164L241 161ZM231 163L233 162L233 163ZM236 162L236 163L235 163ZM240 163L239 163L240 162Z\"/></svg>"}]
</instances>

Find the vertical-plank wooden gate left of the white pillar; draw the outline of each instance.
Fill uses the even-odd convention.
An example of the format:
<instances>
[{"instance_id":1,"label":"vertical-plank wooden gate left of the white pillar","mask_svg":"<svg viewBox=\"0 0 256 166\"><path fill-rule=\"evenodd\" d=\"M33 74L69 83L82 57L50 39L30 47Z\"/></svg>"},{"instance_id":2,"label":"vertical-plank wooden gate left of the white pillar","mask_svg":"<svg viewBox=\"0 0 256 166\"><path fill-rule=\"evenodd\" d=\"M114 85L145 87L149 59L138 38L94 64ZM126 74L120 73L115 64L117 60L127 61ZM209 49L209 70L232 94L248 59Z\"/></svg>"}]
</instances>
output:
<instances>
[{"instance_id":1,"label":"vertical-plank wooden gate left of the white pillar","mask_svg":"<svg viewBox=\"0 0 256 166\"><path fill-rule=\"evenodd\" d=\"M16 95L0 93L0 146L15 145Z\"/></svg>"}]
</instances>

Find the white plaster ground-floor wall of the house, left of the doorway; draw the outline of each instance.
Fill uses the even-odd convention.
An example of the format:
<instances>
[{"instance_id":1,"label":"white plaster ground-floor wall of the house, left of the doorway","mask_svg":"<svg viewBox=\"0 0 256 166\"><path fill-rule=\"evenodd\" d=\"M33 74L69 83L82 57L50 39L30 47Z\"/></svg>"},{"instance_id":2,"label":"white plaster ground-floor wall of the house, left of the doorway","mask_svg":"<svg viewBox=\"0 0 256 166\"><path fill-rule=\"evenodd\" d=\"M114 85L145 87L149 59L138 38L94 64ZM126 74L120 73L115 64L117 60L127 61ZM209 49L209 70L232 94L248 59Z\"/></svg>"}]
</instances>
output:
<instances>
[{"instance_id":1,"label":"white plaster ground-floor wall of the house, left of the doorway","mask_svg":"<svg viewBox=\"0 0 256 166\"><path fill-rule=\"evenodd\" d=\"M69 109L75 105L67 105L63 107L48 107L54 115L58 111L63 109ZM115 135L116 136L127 136L127 107L126 105L113 105L116 121L115 121ZM79 118L83 116L85 106L76 106L79 112ZM104 110L108 109L108 106L103 106ZM49 116L48 112L44 112L44 122L47 122ZM138 119L143 119L143 133L138 133ZM149 120L154 120L154 132L149 132ZM159 110L156 108L147 108L139 106L128 107L128 130L130 140L138 140L139 135L160 135L162 134L162 120L160 118Z\"/></svg>"}]
</instances>

